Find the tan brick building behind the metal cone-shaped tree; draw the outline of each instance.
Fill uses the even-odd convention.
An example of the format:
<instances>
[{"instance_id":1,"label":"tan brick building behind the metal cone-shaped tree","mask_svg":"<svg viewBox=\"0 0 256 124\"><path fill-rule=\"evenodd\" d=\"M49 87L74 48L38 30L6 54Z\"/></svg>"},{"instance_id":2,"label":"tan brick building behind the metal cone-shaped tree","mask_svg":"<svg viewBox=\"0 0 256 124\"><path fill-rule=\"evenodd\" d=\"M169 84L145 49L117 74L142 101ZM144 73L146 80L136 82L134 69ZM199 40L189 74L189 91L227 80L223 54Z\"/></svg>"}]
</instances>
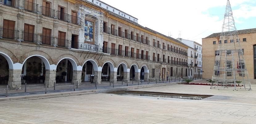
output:
<instances>
[{"instance_id":1,"label":"tan brick building behind the metal cone-shaped tree","mask_svg":"<svg viewBox=\"0 0 256 124\"><path fill-rule=\"evenodd\" d=\"M248 78L251 83L256 82L256 28L238 30L238 37L241 48L243 50L243 57L246 60L246 69L248 71ZM213 76L213 67L217 54L217 48L220 42L221 33L213 33L202 39L203 45L203 78L211 79ZM231 41L221 41L227 43Z\"/></svg>"}]
</instances>

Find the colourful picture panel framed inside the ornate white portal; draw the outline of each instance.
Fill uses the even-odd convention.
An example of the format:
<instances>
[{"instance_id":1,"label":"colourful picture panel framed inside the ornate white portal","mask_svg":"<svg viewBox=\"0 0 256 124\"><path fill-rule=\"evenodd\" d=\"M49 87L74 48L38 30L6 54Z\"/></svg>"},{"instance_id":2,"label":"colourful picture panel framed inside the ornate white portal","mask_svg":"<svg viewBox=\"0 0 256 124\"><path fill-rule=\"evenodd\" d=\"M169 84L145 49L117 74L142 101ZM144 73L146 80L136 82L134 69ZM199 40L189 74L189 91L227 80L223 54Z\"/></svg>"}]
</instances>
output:
<instances>
[{"instance_id":1,"label":"colourful picture panel framed inside the ornate white portal","mask_svg":"<svg viewBox=\"0 0 256 124\"><path fill-rule=\"evenodd\" d=\"M94 22L85 20L85 41L94 41Z\"/></svg>"}]
</instances>

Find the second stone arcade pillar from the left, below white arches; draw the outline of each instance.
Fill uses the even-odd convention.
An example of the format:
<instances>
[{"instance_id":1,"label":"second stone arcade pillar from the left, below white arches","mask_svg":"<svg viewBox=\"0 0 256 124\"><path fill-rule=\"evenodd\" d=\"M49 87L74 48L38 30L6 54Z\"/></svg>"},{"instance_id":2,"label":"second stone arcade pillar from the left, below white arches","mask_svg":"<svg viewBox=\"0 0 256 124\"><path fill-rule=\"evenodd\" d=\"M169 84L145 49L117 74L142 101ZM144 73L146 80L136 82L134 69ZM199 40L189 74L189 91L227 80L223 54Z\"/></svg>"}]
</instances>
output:
<instances>
[{"instance_id":1,"label":"second stone arcade pillar from the left, below white arches","mask_svg":"<svg viewBox=\"0 0 256 124\"><path fill-rule=\"evenodd\" d=\"M47 87L54 87L54 82L56 82L56 70L45 70L44 84Z\"/></svg>"}]
</instances>

